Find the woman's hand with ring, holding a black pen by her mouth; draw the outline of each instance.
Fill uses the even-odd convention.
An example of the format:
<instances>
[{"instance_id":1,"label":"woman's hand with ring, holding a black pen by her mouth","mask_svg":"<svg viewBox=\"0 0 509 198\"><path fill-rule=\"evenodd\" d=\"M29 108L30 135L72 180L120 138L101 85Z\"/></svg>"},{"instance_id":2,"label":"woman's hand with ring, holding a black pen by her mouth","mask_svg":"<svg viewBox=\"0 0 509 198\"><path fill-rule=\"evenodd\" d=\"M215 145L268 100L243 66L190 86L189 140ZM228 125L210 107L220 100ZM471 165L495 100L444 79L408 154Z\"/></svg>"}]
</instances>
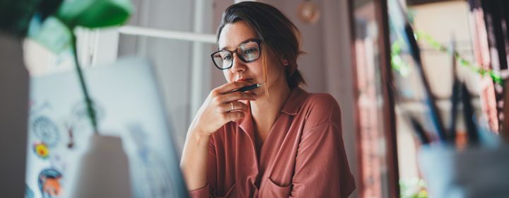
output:
<instances>
[{"instance_id":1,"label":"woman's hand with ring, holding a black pen by her mouth","mask_svg":"<svg viewBox=\"0 0 509 198\"><path fill-rule=\"evenodd\" d=\"M249 109L247 105L238 102L238 100L256 100L257 96L252 93L243 93L242 91L228 92L249 85L247 82L233 81L211 91L194 117L188 133L192 132L198 133L197 135L200 136L211 136L224 124L244 117L245 113L249 112Z\"/></svg>"}]
</instances>

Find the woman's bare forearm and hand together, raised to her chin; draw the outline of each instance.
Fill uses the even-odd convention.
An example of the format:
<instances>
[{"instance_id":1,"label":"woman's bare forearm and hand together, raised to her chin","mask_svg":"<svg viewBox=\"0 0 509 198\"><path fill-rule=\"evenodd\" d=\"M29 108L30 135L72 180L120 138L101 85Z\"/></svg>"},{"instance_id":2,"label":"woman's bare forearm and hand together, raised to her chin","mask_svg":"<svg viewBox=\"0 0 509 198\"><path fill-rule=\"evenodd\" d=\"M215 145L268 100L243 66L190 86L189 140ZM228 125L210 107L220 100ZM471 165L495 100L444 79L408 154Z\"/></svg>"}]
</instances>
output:
<instances>
[{"instance_id":1,"label":"woman's bare forearm and hand together, raised to her chin","mask_svg":"<svg viewBox=\"0 0 509 198\"><path fill-rule=\"evenodd\" d=\"M238 100L255 100L256 95L242 91L228 93L245 86L249 86L249 83L235 81L215 88L194 117L187 131L180 161L180 169L188 190L206 186L210 136L227 122L240 119L245 113L249 113L247 105Z\"/></svg>"}]
</instances>

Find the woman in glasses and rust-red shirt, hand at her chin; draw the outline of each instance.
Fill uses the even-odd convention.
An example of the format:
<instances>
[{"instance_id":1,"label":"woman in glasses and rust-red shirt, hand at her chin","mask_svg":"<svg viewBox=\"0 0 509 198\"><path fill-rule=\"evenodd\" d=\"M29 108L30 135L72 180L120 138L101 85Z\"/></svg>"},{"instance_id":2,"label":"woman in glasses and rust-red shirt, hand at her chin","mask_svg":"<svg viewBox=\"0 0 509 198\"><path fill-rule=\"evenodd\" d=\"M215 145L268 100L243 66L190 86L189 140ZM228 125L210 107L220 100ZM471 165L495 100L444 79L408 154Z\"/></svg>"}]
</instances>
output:
<instances>
[{"instance_id":1,"label":"woman in glasses and rust-red shirt, hand at her chin","mask_svg":"<svg viewBox=\"0 0 509 198\"><path fill-rule=\"evenodd\" d=\"M223 13L211 57L228 83L211 91L187 132L180 167L191 197L348 197L355 189L337 101L298 87L298 36L267 4Z\"/></svg>"}]
</instances>

